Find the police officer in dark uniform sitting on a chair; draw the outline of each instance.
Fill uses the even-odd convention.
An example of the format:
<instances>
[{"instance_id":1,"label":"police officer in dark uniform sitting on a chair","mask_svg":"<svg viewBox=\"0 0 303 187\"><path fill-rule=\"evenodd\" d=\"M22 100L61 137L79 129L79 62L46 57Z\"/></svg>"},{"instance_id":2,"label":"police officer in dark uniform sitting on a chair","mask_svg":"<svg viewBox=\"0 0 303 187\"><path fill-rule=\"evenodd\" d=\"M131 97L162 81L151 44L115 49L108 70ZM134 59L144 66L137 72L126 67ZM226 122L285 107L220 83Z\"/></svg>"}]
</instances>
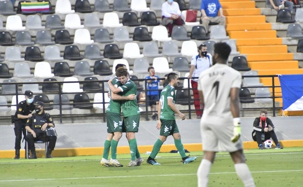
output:
<instances>
[{"instance_id":1,"label":"police officer in dark uniform sitting on a chair","mask_svg":"<svg viewBox=\"0 0 303 187\"><path fill-rule=\"evenodd\" d=\"M44 112L44 103L37 101L34 103L35 113L25 124L26 130L29 132L26 136L29 150L31 150L32 155L30 159L37 158L36 151L34 147L34 141L49 141L49 146L47 148L46 157L52 158L51 152L55 148L57 136L46 136L46 131L50 127L55 127L54 122L52 121L50 114Z\"/></svg>"}]
</instances>

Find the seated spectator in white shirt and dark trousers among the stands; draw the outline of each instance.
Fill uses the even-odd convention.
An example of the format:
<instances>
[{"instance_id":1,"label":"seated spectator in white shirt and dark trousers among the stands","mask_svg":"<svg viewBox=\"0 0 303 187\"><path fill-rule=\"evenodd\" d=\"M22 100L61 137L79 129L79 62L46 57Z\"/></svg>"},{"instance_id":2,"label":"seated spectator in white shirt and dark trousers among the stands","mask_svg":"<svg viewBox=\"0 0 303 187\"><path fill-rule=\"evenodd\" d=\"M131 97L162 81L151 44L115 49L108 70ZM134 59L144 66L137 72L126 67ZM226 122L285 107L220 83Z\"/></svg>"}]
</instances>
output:
<instances>
[{"instance_id":1,"label":"seated spectator in white shirt and dark trousers among the stands","mask_svg":"<svg viewBox=\"0 0 303 187\"><path fill-rule=\"evenodd\" d=\"M162 4L162 25L168 28L168 33L171 35L174 25L183 25L184 21L181 18L181 10L179 4L173 0L167 0Z\"/></svg>"}]
</instances>

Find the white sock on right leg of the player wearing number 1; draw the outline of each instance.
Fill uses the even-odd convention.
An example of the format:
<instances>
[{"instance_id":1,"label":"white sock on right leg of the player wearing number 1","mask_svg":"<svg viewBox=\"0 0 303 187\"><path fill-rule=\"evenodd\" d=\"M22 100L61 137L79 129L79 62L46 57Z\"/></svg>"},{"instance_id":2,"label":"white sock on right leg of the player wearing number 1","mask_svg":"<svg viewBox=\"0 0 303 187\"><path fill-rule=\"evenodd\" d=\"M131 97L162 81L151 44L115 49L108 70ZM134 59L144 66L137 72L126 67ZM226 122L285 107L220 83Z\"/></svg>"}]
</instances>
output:
<instances>
[{"instance_id":1,"label":"white sock on right leg of the player wearing number 1","mask_svg":"<svg viewBox=\"0 0 303 187\"><path fill-rule=\"evenodd\" d=\"M255 187L252 173L248 169L247 164L235 164L235 169L238 177L242 180L245 187Z\"/></svg>"}]
</instances>

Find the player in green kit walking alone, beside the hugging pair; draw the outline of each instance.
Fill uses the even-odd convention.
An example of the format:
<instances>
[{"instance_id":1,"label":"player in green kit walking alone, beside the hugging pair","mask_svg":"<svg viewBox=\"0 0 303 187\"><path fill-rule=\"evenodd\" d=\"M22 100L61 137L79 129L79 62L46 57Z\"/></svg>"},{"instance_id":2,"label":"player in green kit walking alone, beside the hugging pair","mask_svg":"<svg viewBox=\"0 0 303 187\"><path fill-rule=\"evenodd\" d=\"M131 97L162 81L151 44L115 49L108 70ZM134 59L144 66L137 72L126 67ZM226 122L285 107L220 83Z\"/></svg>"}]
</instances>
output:
<instances>
[{"instance_id":1,"label":"player in green kit walking alone, beside the hugging pair","mask_svg":"<svg viewBox=\"0 0 303 187\"><path fill-rule=\"evenodd\" d=\"M158 123L157 129L160 129L159 139L155 142L152 148L152 153L147 159L148 164L161 165L157 163L154 158L159 153L162 144L166 141L167 137L172 135L174 138L175 146L182 157L184 164L188 164L197 159L196 156L189 157L185 155L184 147L181 142L181 135L175 119L175 113L184 120L185 115L181 113L175 106L176 94L175 86L179 83L179 76L176 73L168 74L168 85L161 91L160 101L158 105Z\"/></svg>"}]
</instances>

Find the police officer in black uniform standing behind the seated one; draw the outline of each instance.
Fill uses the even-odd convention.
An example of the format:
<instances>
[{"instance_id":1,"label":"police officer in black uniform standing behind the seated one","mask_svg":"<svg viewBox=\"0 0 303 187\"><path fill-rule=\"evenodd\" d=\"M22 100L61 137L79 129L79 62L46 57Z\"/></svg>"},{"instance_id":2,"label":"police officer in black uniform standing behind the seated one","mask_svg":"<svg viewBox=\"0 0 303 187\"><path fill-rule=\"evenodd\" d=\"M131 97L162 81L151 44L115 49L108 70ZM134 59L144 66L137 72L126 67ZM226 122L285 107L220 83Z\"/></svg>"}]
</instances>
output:
<instances>
[{"instance_id":1,"label":"police officer in black uniform standing behind the seated one","mask_svg":"<svg viewBox=\"0 0 303 187\"><path fill-rule=\"evenodd\" d=\"M26 130L25 130L25 123L26 120L30 117L32 117L32 112L34 111L34 98L33 98L33 92L31 90L26 90L25 93L25 100L18 103L17 111L15 113L15 150L16 155L15 159L20 158L20 149L21 149L21 139L22 139L22 133L23 136L26 136Z\"/></svg>"}]
</instances>

